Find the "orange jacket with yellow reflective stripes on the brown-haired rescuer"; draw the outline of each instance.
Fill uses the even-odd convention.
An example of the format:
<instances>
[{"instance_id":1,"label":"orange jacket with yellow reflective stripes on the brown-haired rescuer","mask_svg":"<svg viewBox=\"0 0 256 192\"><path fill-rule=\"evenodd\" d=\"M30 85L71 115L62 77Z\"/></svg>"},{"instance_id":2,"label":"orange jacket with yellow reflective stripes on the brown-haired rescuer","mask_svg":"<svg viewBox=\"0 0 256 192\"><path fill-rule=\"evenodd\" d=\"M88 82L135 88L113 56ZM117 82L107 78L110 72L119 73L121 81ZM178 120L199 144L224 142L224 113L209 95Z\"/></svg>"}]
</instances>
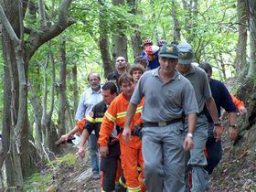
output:
<instances>
[{"instance_id":1,"label":"orange jacket with yellow reflective stripes on the brown-haired rescuer","mask_svg":"<svg viewBox=\"0 0 256 192\"><path fill-rule=\"evenodd\" d=\"M123 92L112 101L107 112L105 112L105 115L103 117L103 122L101 123L100 138L98 140L98 143L100 144L100 146L107 146L108 138L112 133L112 129L114 128L115 124L118 125L121 129L123 129L128 105L129 105L129 101L127 101ZM130 126L132 131L134 129L135 124L142 123L142 119L140 117L141 117L143 105L144 105L144 99L137 106L137 110L134 114L133 121ZM124 144L122 133L119 133L118 139L122 144ZM140 140L139 137L133 136L132 141L129 142L129 146L131 146L132 148L137 148L138 147L137 145L139 145L137 144L138 140Z\"/></svg>"}]
</instances>

